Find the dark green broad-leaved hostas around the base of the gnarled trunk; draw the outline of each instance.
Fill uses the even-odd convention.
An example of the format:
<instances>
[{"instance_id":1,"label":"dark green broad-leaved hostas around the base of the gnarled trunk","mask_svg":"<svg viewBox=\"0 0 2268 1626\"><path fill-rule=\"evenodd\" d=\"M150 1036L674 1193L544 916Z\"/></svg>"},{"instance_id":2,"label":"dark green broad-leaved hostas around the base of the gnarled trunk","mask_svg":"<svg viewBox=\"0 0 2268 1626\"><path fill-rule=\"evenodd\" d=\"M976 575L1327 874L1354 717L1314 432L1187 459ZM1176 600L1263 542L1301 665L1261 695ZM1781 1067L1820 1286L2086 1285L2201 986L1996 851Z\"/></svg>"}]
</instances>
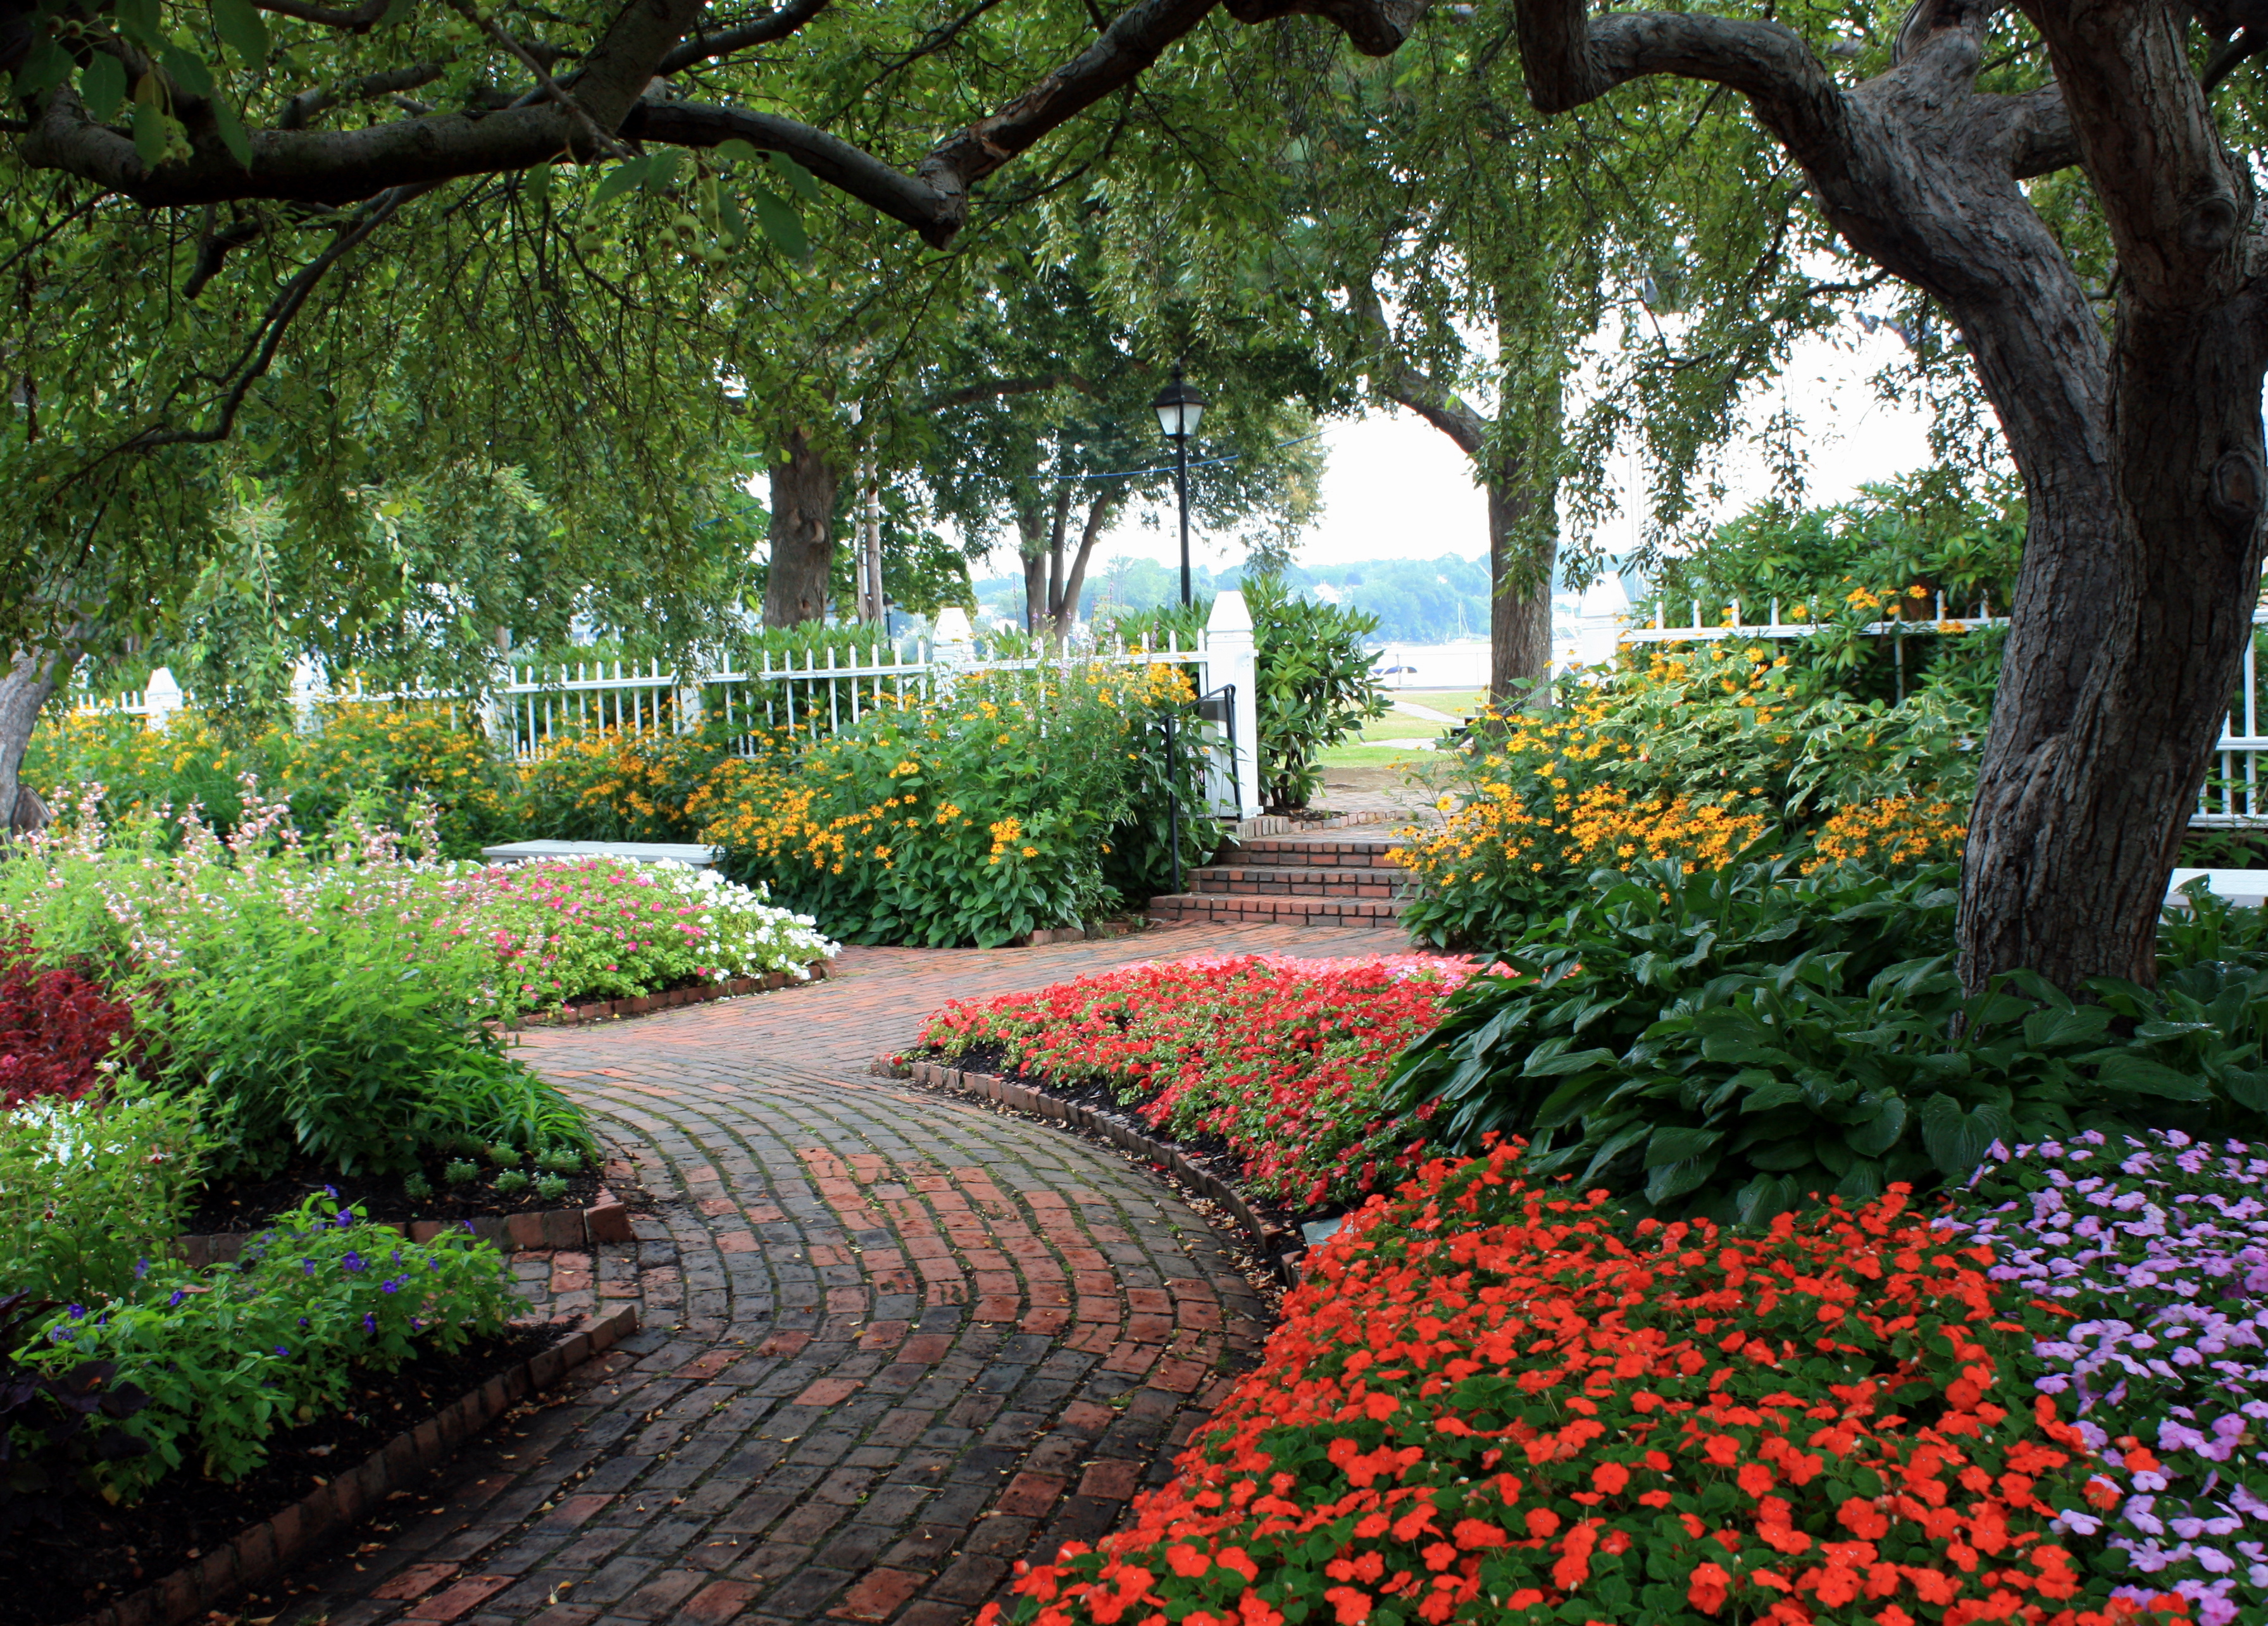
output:
<instances>
[{"instance_id":1,"label":"dark green broad-leaved hostas around the base of the gnarled trunk","mask_svg":"<svg viewBox=\"0 0 2268 1626\"><path fill-rule=\"evenodd\" d=\"M2259 1134L2268 971L2186 966L2075 1005L2019 973L1964 996L1935 871L1644 864L1452 996L1397 1084L1433 1134L1529 1141L1647 1213L1758 1222L1814 1195L1964 1179L1994 1141Z\"/></svg>"}]
</instances>

